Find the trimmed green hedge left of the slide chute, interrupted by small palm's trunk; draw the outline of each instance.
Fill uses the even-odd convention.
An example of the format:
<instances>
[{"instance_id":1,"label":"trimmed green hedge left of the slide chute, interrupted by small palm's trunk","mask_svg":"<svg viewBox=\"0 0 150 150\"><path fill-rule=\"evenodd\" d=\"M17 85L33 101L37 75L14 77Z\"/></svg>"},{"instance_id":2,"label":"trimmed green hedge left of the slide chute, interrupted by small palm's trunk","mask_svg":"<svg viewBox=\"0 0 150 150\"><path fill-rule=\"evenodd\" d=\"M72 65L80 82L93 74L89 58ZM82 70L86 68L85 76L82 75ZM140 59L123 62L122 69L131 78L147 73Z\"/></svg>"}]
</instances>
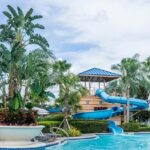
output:
<instances>
[{"instance_id":1,"label":"trimmed green hedge left of the slide chute, interrupted by small palm's trunk","mask_svg":"<svg viewBox=\"0 0 150 150\"><path fill-rule=\"evenodd\" d=\"M38 124L45 125L43 132L49 132L50 127L58 127L61 121L40 121ZM69 124L81 133L100 133L108 132L107 121L95 121L95 120L69 120Z\"/></svg>"}]
</instances>

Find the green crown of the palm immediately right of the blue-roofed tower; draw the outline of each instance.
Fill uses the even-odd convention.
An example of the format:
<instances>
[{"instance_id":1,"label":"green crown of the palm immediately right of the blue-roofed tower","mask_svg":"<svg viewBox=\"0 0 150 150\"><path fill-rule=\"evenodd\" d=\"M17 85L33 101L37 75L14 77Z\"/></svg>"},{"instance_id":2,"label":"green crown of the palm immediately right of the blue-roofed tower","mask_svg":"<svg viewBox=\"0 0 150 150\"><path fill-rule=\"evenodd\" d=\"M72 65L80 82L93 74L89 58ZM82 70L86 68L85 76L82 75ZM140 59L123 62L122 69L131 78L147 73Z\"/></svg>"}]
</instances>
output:
<instances>
[{"instance_id":1,"label":"green crown of the palm immediately right of the blue-roofed tower","mask_svg":"<svg viewBox=\"0 0 150 150\"><path fill-rule=\"evenodd\" d=\"M130 87L130 96L134 97L138 90L139 78L141 75L141 63L138 60L139 55L136 54L132 58L124 58L120 64L112 65L111 69L119 72L122 76L111 84L115 84L116 90L121 92L120 94L126 93Z\"/></svg>"}]
</instances>

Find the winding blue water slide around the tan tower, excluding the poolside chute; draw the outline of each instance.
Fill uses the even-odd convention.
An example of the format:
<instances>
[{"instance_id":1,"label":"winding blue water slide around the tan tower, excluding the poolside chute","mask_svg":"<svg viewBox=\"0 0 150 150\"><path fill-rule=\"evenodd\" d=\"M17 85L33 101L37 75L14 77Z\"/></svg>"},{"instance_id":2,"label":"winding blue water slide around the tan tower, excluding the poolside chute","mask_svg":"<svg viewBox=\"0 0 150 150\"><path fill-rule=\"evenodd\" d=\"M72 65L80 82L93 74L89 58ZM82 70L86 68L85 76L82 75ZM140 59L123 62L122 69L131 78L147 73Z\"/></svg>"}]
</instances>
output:
<instances>
[{"instance_id":1,"label":"winding blue water slide around the tan tower, excluding the poolside chute","mask_svg":"<svg viewBox=\"0 0 150 150\"><path fill-rule=\"evenodd\" d=\"M108 103L127 104L128 99L126 97L109 96L105 91L98 89L96 96L100 97L103 101ZM148 108L146 100L129 98L130 110L140 110ZM112 116L123 113L123 107L112 107L106 110L98 110L94 112L81 112L73 115L74 119L107 119Z\"/></svg>"}]
</instances>

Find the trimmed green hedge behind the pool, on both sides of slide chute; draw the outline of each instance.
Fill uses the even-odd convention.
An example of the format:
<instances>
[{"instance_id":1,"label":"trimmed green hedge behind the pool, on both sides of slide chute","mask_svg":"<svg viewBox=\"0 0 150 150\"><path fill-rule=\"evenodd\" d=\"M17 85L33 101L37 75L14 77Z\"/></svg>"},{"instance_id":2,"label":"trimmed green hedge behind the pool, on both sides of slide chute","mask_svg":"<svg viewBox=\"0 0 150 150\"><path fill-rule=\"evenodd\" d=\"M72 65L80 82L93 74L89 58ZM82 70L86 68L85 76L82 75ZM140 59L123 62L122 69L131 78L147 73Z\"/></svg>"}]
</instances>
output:
<instances>
[{"instance_id":1,"label":"trimmed green hedge behind the pool, on both sides of slide chute","mask_svg":"<svg viewBox=\"0 0 150 150\"><path fill-rule=\"evenodd\" d=\"M49 132L51 127L58 127L61 121L39 121L39 125L44 125L44 133ZM69 120L69 124L76 129L80 130L81 133L105 133L108 132L107 121L98 120ZM121 125L125 132L146 132L150 131L150 127L141 125L139 123L126 123Z\"/></svg>"}]
</instances>

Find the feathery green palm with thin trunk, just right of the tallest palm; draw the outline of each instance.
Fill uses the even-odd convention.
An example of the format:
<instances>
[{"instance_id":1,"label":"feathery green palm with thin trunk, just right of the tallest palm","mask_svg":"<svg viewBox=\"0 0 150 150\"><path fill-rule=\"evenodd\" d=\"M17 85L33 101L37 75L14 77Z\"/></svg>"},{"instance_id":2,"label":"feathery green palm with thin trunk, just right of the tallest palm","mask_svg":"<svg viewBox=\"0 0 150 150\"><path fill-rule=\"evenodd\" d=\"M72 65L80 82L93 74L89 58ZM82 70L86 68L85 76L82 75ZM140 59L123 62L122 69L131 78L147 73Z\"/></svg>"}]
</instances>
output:
<instances>
[{"instance_id":1,"label":"feathery green palm with thin trunk, just right of the tallest palm","mask_svg":"<svg viewBox=\"0 0 150 150\"><path fill-rule=\"evenodd\" d=\"M26 57L22 68L23 71L21 72L25 86L24 101L28 98L29 89L32 87L30 85L34 84L37 80L42 79L43 74L47 76L47 78L50 76L48 75L48 72L52 66L49 60L51 60L51 58L48 57L47 52L42 51L41 49L34 50ZM47 82L50 82L50 79L52 79L52 75Z\"/></svg>"}]
</instances>

